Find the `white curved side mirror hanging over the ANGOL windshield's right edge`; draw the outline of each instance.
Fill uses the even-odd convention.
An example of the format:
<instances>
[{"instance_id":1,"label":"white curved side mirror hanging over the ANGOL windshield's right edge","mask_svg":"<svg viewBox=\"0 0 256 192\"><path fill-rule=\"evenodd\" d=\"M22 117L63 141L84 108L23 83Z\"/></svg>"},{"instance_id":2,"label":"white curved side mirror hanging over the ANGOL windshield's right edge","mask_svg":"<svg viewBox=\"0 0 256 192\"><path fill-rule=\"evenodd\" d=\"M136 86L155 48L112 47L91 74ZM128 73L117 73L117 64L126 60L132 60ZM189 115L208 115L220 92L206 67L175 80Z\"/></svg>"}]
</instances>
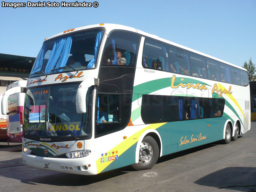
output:
<instances>
[{"instance_id":1,"label":"white curved side mirror hanging over the ANGOL windshield's right edge","mask_svg":"<svg viewBox=\"0 0 256 192\"><path fill-rule=\"evenodd\" d=\"M86 93L93 85L99 86L99 79L91 77L79 85L76 92L76 113L86 113Z\"/></svg>"}]
</instances>

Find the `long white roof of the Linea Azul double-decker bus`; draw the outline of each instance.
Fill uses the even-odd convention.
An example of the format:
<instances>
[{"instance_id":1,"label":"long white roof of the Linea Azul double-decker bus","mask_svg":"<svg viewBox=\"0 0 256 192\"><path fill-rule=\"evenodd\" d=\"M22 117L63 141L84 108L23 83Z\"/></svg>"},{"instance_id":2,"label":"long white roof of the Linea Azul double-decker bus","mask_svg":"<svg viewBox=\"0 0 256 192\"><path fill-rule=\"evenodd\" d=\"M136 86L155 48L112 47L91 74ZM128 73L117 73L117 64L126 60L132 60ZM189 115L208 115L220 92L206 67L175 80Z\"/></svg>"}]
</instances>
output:
<instances>
[{"instance_id":1,"label":"long white roof of the Linea Azul double-decker bus","mask_svg":"<svg viewBox=\"0 0 256 192\"><path fill-rule=\"evenodd\" d=\"M187 50L187 51L194 52L194 53L200 54L200 55L202 55L202 56L208 57L208 58L210 58L210 59L217 60L217 61L220 61L220 62L226 63L226 64L228 64L228 65L231 65L231 66L234 66L234 67L237 67L237 68L240 68L240 69L242 69L242 70L247 71L245 68L242 68L242 67L240 67L240 66L236 66L236 65L234 65L234 64L232 64L232 63L229 63L229 62L227 62L227 61L218 59L218 58L216 58L216 57L212 57L212 56L207 55L207 54L205 54L205 53L202 53L202 52L196 51L196 50L194 50L194 49L190 49L190 48L188 48L188 47L185 47L185 46L183 46L183 45L176 44L176 43L174 43L174 42L172 42L172 41L168 41L168 40L163 39L163 38L161 38L161 37L158 37L158 36L156 36L156 35L152 35L152 34L149 34L149 33L144 32L144 31L141 31L141 30L139 30L139 29L132 28L132 27L128 27L128 26L124 26L124 25L119 25L119 24L109 24L109 23L106 23L106 24L104 23L104 24L103 24L103 23L102 23L102 24L96 24L96 25L83 26L83 27L79 27L79 28L72 29L72 31L71 31L71 29L70 29L70 31L65 30L65 31L63 31L63 32L61 32L61 33L59 33L59 34L56 34L56 35L54 35L54 36L51 36L51 37L47 38L47 40L52 39L52 38L55 38L55 37L57 37L57 36L62 36L62 35L68 34L68 33L74 33L74 32L80 31L80 30L86 30L86 29L91 29L91 28L105 28L107 35L109 34L110 31L116 30L116 29L131 31L131 32L134 32L134 33L138 33L138 34L140 34L140 35L142 35L142 36L147 36L147 37L150 37L150 38L154 38L154 39L156 39L156 40L158 40L158 41L161 41L161 42L164 42L164 43L167 43L167 44L171 44L171 45L180 47L180 48L185 49L185 50ZM46 39L45 39L45 40L46 40Z\"/></svg>"}]
</instances>

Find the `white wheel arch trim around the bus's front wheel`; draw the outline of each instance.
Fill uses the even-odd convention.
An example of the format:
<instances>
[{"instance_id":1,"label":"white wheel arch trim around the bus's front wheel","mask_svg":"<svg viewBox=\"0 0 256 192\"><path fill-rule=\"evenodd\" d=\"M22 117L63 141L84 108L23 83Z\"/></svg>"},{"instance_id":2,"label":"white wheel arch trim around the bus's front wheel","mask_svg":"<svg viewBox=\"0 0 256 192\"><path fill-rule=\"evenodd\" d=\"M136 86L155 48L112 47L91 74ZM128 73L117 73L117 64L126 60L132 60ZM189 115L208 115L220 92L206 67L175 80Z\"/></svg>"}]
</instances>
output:
<instances>
[{"instance_id":1,"label":"white wheel arch trim around the bus's front wheel","mask_svg":"<svg viewBox=\"0 0 256 192\"><path fill-rule=\"evenodd\" d=\"M136 151L135 151L135 163L139 163L140 143L142 142L143 138L145 138L147 136L151 136L151 137L153 137L154 140L156 140L156 143L159 148L159 157L161 157L163 154L162 139L161 139L160 134L155 129L148 129L140 135L140 138L137 142Z\"/></svg>"}]
</instances>

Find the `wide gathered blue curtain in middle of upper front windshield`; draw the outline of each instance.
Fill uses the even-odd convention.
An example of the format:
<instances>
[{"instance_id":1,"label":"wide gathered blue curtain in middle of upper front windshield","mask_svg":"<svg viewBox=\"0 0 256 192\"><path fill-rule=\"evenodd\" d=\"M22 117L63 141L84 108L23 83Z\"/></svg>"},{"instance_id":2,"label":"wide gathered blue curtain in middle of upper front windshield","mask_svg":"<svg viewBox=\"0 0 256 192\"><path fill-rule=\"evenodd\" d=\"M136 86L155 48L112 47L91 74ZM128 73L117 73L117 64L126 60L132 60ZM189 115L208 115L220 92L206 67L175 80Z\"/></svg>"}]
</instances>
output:
<instances>
[{"instance_id":1,"label":"wide gathered blue curtain in middle of upper front windshield","mask_svg":"<svg viewBox=\"0 0 256 192\"><path fill-rule=\"evenodd\" d=\"M64 67L68 61L68 55L72 44L72 37L68 36L55 41L51 56L45 67L45 74L49 74L51 70L59 67ZM56 65L56 66L55 66ZM61 72L58 70L58 72Z\"/></svg>"}]
</instances>

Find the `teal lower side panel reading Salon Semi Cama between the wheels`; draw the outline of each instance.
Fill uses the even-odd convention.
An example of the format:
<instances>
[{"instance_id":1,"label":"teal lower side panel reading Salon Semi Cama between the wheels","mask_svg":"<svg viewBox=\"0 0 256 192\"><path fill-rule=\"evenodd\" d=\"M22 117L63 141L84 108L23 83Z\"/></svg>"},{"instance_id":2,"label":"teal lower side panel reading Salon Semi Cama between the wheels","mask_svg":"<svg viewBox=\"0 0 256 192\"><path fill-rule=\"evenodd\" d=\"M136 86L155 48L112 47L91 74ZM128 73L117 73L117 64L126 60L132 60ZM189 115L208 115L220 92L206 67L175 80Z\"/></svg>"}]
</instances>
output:
<instances>
[{"instance_id":1,"label":"teal lower side panel reading Salon Semi Cama between the wheels","mask_svg":"<svg viewBox=\"0 0 256 192\"><path fill-rule=\"evenodd\" d=\"M227 118L220 117L218 121L216 118L209 118L170 122L162 125L157 131L162 138L163 155L222 140L226 121ZM174 144L178 144L176 151Z\"/></svg>"}]
</instances>

